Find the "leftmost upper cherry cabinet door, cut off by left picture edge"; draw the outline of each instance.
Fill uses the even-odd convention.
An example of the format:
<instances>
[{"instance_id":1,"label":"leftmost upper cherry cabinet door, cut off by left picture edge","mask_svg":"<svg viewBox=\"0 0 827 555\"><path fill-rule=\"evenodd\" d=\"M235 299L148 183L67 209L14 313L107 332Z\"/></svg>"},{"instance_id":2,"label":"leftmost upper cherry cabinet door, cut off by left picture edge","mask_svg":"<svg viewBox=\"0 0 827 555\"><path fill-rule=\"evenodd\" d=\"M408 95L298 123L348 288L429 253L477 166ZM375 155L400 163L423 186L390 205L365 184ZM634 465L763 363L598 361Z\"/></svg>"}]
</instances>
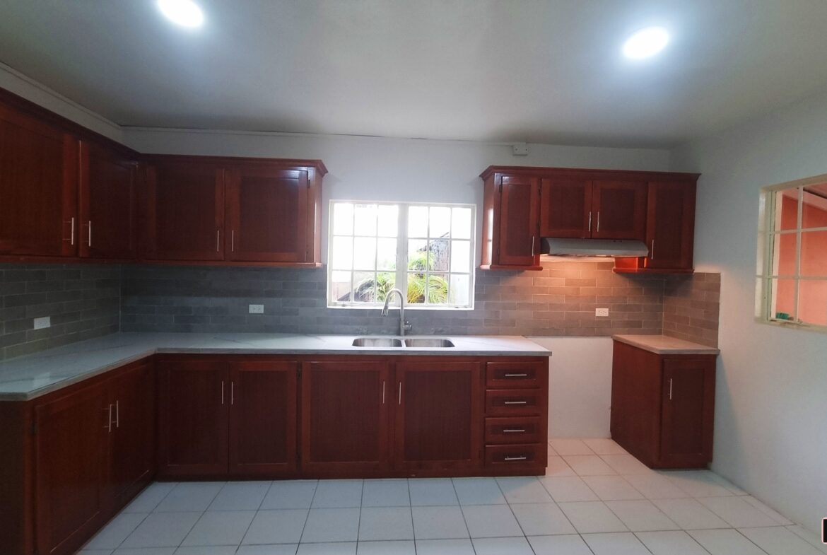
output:
<instances>
[{"instance_id":1,"label":"leftmost upper cherry cabinet door, cut off by left picture edge","mask_svg":"<svg viewBox=\"0 0 827 555\"><path fill-rule=\"evenodd\" d=\"M78 252L78 141L0 105L0 254Z\"/></svg>"}]
</instances>

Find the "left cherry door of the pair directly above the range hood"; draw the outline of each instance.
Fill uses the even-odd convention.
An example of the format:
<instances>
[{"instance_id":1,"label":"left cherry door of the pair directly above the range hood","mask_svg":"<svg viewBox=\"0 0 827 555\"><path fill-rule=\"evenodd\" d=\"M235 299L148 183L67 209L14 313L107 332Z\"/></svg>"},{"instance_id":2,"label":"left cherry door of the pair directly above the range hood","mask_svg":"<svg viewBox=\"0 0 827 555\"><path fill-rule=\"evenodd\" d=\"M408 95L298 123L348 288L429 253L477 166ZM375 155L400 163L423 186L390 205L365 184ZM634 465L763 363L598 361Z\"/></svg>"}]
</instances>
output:
<instances>
[{"instance_id":1,"label":"left cherry door of the pair directly above the range hood","mask_svg":"<svg viewBox=\"0 0 827 555\"><path fill-rule=\"evenodd\" d=\"M540 184L540 236L590 237L591 181L544 178Z\"/></svg>"}]
</instances>

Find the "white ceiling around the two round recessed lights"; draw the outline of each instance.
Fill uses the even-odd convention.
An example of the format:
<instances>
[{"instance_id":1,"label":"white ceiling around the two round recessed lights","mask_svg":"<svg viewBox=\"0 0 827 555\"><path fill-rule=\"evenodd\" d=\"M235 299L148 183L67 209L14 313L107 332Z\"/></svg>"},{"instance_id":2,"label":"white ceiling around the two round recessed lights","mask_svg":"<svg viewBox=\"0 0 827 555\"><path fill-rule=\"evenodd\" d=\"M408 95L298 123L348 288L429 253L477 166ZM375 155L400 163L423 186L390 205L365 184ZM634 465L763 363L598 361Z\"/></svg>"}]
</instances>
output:
<instances>
[{"instance_id":1,"label":"white ceiling around the two round recessed lights","mask_svg":"<svg viewBox=\"0 0 827 555\"><path fill-rule=\"evenodd\" d=\"M827 90L825 0L6 0L0 61L123 126L672 146ZM652 60L620 55L658 24Z\"/></svg>"}]
</instances>

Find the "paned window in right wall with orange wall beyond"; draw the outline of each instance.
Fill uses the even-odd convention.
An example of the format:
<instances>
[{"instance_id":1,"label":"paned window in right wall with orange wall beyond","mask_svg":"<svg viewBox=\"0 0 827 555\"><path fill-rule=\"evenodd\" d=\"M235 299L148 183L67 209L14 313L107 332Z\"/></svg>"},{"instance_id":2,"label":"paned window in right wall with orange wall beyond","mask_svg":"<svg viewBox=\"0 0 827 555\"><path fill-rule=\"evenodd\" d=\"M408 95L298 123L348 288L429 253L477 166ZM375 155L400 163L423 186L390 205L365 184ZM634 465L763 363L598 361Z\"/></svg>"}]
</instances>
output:
<instances>
[{"instance_id":1,"label":"paned window in right wall with orange wall beyond","mask_svg":"<svg viewBox=\"0 0 827 555\"><path fill-rule=\"evenodd\" d=\"M762 191L758 318L827 332L827 175Z\"/></svg>"}]
</instances>

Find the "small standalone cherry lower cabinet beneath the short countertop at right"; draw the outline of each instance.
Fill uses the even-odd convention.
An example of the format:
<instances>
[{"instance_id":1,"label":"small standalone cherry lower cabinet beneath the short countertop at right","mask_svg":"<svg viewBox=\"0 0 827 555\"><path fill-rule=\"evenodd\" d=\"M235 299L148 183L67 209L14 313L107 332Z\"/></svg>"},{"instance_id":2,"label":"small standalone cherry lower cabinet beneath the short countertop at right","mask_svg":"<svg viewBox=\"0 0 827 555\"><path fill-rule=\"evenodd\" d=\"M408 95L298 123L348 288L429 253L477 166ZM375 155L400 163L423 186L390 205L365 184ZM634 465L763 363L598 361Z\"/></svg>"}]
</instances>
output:
<instances>
[{"instance_id":1,"label":"small standalone cherry lower cabinet beneath the short countertop at right","mask_svg":"<svg viewBox=\"0 0 827 555\"><path fill-rule=\"evenodd\" d=\"M652 468L712 460L715 355L657 355L614 342L612 439Z\"/></svg>"}]
</instances>

